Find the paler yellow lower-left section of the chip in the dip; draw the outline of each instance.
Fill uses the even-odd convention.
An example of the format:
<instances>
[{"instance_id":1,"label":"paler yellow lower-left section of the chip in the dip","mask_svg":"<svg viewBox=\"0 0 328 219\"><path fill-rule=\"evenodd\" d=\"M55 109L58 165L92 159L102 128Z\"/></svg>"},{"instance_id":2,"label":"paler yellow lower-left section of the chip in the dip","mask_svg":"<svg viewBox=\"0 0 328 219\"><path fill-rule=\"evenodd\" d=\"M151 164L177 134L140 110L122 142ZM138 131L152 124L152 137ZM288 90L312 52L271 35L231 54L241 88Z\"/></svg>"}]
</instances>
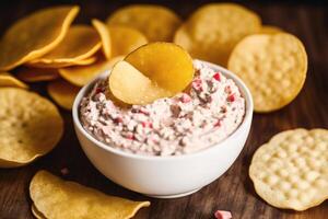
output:
<instances>
[{"instance_id":1,"label":"paler yellow lower-left section of the chip in the dip","mask_svg":"<svg viewBox=\"0 0 328 219\"><path fill-rule=\"evenodd\" d=\"M138 105L173 95L127 61L119 61L114 66L109 74L109 89L113 95L124 103Z\"/></svg>"}]
</instances>

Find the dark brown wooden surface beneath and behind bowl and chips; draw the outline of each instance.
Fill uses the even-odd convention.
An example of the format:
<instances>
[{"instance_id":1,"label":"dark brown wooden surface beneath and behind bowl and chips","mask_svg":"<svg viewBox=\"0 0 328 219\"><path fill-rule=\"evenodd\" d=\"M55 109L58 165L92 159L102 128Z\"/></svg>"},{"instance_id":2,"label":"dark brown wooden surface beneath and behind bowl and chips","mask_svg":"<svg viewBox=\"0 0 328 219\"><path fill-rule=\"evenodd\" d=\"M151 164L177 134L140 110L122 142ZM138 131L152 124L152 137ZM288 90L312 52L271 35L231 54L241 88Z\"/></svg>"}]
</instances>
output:
<instances>
[{"instance_id":1,"label":"dark brown wooden surface beneath and behind bowl and chips","mask_svg":"<svg viewBox=\"0 0 328 219\"><path fill-rule=\"evenodd\" d=\"M1 1L0 33L2 34L13 21L32 11L47 5L72 2ZM89 23L92 18L105 20L110 12L127 3L129 1L80 1L82 11L77 22ZM204 1L157 1L157 3L172 8L181 18L187 18ZM80 149L70 112L61 111L66 122L66 132L52 152L24 168L0 169L0 219L33 218L28 196L32 176L42 169L60 175L62 168L68 168L70 171L65 176L67 180L110 195L151 200L151 207L141 210L136 218L207 219L213 218L216 209L231 210L234 219L328 218L328 201L303 212L269 206L255 193L247 174L254 151L272 135L296 127L328 128L328 8L323 1L312 4L296 3L296 1L246 1L242 4L259 13L265 24L278 25L298 36L305 44L309 66L305 87L296 100L279 112L254 116L248 141L239 158L224 175L198 193L176 199L148 198L127 191L104 177L92 166ZM33 89L46 95L44 84L35 84Z\"/></svg>"}]
</instances>

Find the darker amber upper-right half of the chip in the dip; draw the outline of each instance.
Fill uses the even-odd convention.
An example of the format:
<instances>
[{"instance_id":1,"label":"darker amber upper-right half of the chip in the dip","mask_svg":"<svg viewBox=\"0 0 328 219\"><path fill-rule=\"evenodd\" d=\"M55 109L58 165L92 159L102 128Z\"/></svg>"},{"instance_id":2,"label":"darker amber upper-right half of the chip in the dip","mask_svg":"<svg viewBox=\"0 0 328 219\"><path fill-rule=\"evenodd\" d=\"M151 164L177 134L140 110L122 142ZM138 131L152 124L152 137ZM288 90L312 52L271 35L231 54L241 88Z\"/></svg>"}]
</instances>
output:
<instances>
[{"instance_id":1,"label":"darker amber upper-right half of the chip in the dip","mask_svg":"<svg viewBox=\"0 0 328 219\"><path fill-rule=\"evenodd\" d=\"M183 91L194 78L191 57L172 43L147 44L125 60L172 94Z\"/></svg>"}]
</instances>

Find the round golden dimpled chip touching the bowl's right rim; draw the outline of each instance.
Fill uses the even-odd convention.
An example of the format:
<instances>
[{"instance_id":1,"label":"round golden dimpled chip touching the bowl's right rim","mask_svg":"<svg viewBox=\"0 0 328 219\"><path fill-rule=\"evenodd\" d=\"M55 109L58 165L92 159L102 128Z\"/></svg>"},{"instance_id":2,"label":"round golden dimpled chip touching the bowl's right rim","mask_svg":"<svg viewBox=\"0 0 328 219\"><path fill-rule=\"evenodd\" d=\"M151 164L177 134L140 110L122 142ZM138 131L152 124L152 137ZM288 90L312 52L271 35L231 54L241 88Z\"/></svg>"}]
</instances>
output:
<instances>
[{"instance_id":1,"label":"round golden dimpled chip touching the bowl's right rim","mask_svg":"<svg viewBox=\"0 0 328 219\"><path fill-rule=\"evenodd\" d=\"M271 112L292 102L307 71L303 44L291 34L251 35L233 50L229 67L250 89L256 112Z\"/></svg>"}]
</instances>

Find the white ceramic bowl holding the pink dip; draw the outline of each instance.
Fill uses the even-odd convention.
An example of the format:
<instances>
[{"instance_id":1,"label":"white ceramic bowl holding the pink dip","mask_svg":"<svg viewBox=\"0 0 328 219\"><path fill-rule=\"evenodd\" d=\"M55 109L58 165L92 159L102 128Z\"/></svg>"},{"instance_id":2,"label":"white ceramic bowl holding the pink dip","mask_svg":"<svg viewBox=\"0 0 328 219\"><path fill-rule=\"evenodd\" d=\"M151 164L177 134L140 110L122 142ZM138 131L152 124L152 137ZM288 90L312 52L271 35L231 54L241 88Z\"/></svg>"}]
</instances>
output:
<instances>
[{"instance_id":1,"label":"white ceramic bowl holding the pink dip","mask_svg":"<svg viewBox=\"0 0 328 219\"><path fill-rule=\"evenodd\" d=\"M128 189L160 198L189 195L220 177L233 164L245 145L251 124L253 100L239 78L220 66L204 64L233 79L246 100L244 120L231 136L199 152L176 157L139 155L106 146L83 129L79 105L95 81L108 74L107 71L79 92L72 112L79 141L93 165L110 181Z\"/></svg>"}]
</instances>

